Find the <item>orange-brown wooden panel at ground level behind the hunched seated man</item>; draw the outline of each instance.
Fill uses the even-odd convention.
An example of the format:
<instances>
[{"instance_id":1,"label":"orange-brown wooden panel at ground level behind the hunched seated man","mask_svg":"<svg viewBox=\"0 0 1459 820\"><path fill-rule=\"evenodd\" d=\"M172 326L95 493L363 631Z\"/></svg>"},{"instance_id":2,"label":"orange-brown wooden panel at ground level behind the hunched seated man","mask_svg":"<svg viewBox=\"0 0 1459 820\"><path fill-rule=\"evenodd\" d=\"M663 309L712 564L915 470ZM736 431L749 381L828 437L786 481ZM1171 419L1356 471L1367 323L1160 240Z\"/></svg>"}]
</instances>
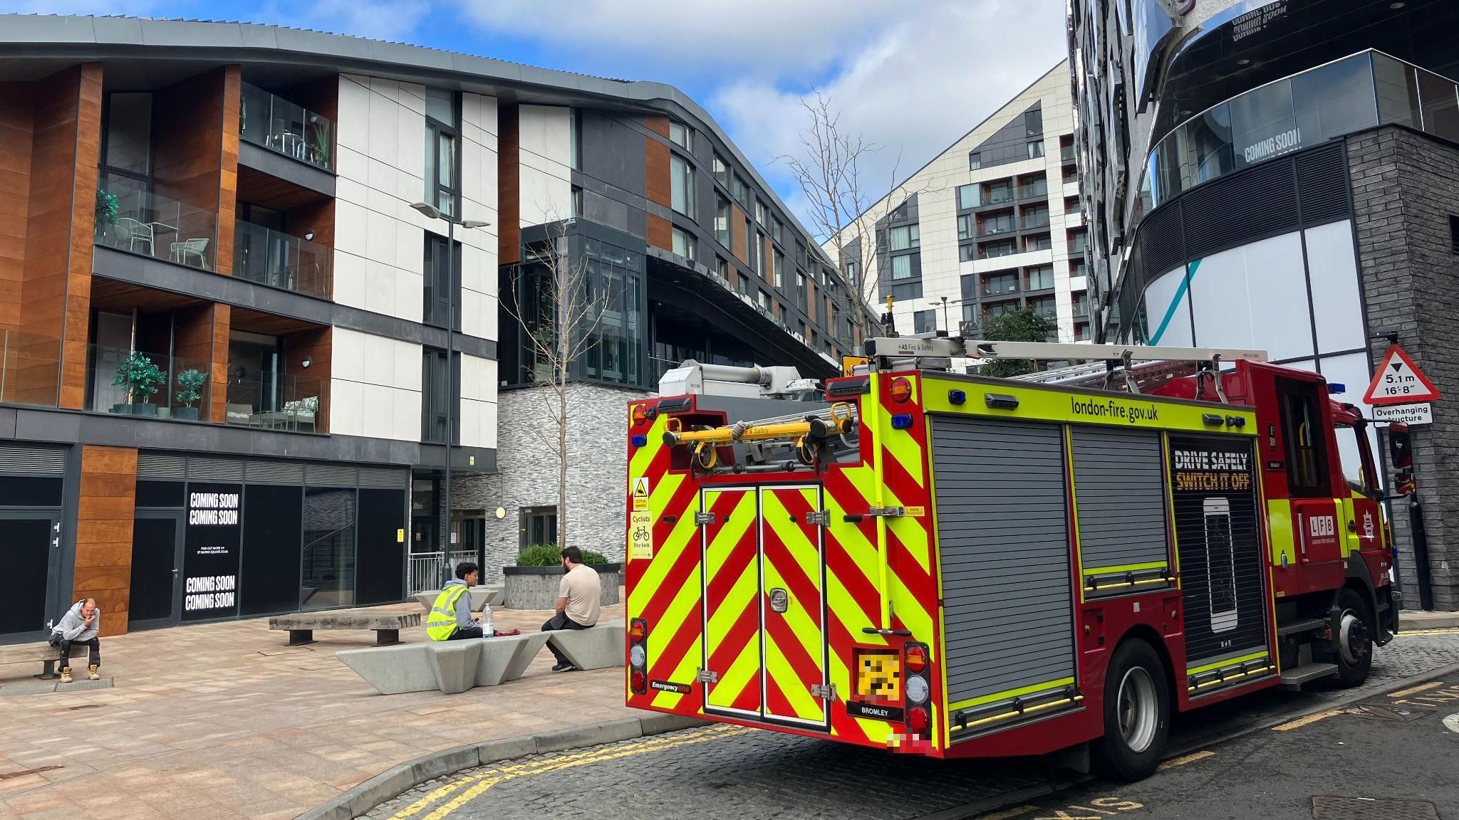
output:
<instances>
[{"instance_id":1,"label":"orange-brown wooden panel at ground level behind the hunched seated man","mask_svg":"<svg viewBox=\"0 0 1459 820\"><path fill-rule=\"evenodd\" d=\"M127 633L136 500L137 451L83 445L71 600L96 598L104 638Z\"/></svg>"}]
</instances>

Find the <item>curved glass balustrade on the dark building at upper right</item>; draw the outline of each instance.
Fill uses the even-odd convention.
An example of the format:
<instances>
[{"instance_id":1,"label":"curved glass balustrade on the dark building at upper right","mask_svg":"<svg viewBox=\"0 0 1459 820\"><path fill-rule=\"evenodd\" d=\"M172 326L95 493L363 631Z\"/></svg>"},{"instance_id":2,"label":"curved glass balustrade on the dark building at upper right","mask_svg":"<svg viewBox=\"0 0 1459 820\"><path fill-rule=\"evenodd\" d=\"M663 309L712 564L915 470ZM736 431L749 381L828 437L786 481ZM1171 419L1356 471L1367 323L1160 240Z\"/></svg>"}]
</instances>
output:
<instances>
[{"instance_id":1,"label":"curved glass balustrade on the dark building at upper right","mask_svg":"<svg viewBox=\"0 0 1459 820\"><path fill-rule=\"evenodd\" d=\"M1364 51L1252 89L1160 140L1145 168L1144 210L1247 165L1388 124L1459 143L1459 86Z\"/></svg>"}]
</instances>

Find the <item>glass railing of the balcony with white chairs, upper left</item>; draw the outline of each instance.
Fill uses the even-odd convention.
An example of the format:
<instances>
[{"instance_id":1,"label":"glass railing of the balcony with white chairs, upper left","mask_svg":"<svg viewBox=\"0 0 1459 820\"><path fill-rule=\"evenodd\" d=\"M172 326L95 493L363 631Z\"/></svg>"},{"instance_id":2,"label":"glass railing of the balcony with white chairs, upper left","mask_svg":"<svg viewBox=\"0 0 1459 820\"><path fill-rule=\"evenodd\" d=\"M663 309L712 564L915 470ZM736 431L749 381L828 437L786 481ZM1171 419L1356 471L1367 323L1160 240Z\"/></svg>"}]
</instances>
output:
<instances>
[{"instance_id":1,"label":"glass railing of the balcony with white chairs, upper left","mask_svg":"<svg viewBox=\"0 0 1459 820\"><path fill-rule=\"evenodd\" d=\"M216 213L150 191L109 193L102 188L98 200L102 197L115 197L117 212L107 216L98 210L98 245L216 270Z\"/></svg>"}]
</instances>

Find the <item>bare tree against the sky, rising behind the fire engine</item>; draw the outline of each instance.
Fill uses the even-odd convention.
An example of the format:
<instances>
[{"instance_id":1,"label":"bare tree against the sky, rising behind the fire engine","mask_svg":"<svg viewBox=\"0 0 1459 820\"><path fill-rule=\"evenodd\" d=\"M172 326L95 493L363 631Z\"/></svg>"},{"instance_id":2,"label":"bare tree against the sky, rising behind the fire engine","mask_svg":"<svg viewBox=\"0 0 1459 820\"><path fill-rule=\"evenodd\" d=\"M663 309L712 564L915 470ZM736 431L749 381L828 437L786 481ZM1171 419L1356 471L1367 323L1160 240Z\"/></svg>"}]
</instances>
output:
<instances>
[{"instance_id":1,"label":"bare tree against the sky, rising behind the fire engine","mask_svg":"<svg viewBox=\"0 0 1459 820\"><path fill-rule=\"evenodd\" d=\"M867 314L877 312L877 277L871 274L877 261L875 217L865 214L877 203L886 201L884 210L891 212L900 200L910 196L906 185L897 184L902 153L886 185L870 181L865 165L884 146L868 143L861 133L854 133L840 124L840 112L829 96L816 92L813 98L801 98L807 125L801 131L801 152L782 155L783 162L801 188L810 207L811 231L821 245L832 245L836 267L840 268L849 286L849 309L852 324L865 337ZM880 271L878 271L880 273Z\"/></svg>"}]
</instances>

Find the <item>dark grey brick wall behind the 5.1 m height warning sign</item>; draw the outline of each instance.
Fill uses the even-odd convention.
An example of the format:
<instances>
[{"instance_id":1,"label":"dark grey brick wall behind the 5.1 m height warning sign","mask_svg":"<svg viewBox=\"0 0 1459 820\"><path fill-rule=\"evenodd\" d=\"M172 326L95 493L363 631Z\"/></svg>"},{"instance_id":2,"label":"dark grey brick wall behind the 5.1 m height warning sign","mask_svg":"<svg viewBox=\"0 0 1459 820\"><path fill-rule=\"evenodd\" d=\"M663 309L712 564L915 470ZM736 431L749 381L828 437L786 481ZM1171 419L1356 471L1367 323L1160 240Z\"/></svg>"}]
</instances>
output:
<instances>
[{"instance_id":1,"label":"dark grey brick wall behind the 5.1 m height warning sign","mask_svg":"<svg viewBox=\"0 0 1459 820\"><path fill-rule=\"evenodd\" d=\"M1348 139L1358 266L1369 333L1399 344L1444 401L1434 423L1412 428L1414 470L1428 534L1434 607L1459 608L1459 255L1449 216L1459 214L1459 147L1399 127ZM1373 365L1388 341L1370 341ZM1388 446L1386 436L1383 446ZM1392 505L1404 604L1418 607L1408 505Z\"/></svg>"}]
</instances>

